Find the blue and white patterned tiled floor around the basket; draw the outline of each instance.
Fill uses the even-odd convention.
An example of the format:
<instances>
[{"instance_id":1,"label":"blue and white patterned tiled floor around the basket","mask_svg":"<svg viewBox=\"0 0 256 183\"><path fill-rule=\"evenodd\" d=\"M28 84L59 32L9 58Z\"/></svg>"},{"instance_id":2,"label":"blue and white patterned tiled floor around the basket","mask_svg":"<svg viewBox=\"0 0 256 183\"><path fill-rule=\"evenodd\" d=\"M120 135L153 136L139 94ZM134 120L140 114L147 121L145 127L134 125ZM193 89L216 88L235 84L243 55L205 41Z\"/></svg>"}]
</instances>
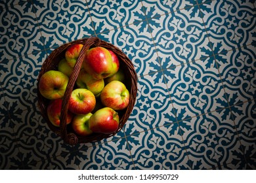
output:
<instances>
[{"instance_id":1,"label":"blue and white patterned tiled floor around the basket","mask_svg":"<svg viewBox=\"0 0 256 183\"><path fill-rule=\"evenodd\" d=\"M1 169L256 169L255 0L0 2ZM91 36L133 61L137 102L116 136L68 146L37 76Z\"/></svg>"}]
</instances>

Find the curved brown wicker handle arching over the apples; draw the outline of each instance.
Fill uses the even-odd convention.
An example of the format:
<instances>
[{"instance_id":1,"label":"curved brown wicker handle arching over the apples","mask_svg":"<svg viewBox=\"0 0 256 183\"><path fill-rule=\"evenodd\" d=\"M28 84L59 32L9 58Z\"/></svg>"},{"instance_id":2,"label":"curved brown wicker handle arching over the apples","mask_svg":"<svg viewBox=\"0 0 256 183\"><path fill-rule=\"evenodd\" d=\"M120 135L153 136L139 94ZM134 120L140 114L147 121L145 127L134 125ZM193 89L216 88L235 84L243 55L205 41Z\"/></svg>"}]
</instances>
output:
<instances>
[{"instance_id":1,"label":"curved brown wicker handle arching over the apples","mask_svg":"<svg viewBox=\"0 0 256 183\"><path fill-rule=\"evenodd\" d=\"M78 42L79 43L79 42ZM70 79L68 80L68 85L66 87L66 91L64 93L63 101L62 101L62 108L60 112L60 134L64 142L74 145L77 144L78 139L77 136L74 133L68 133L66 129L66 120L67 120L67 114L68 114L68 101L70 99L71 93L74 89L75 81L77 79L77 76L79 75L79 71L81 69L81 66L83 64L83 60L85 59L85 53L91 46L98 46L100 44L100 39L98 37L90 37L87 39L85 44L83 45L83 48L81 49L81 52L77 58L77 61L75 63L74 69L72 71L72 74L70 75Z\"/></svg>"}]
</instances>

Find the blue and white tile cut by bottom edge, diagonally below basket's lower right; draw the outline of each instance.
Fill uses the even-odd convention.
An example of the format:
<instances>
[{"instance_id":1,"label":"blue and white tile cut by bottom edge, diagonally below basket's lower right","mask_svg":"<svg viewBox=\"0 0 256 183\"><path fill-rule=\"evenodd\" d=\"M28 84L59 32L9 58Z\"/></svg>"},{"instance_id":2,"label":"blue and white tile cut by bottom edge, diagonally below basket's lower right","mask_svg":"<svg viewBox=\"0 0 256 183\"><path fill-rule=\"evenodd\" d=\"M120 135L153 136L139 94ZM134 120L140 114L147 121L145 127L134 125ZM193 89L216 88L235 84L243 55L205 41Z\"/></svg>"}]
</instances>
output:
<instances>
[{"instance_id":1,"label":"blue and white tile cut by bottom edge, diagonally below basket's lower right","mask_svg":"<svg viewBox=\"0 0 256 183\"><path fill-rule=\"evenodd\" d=\"M135 169L190 169L177 123L127 137Z\"/></svg>"}]
</instances>

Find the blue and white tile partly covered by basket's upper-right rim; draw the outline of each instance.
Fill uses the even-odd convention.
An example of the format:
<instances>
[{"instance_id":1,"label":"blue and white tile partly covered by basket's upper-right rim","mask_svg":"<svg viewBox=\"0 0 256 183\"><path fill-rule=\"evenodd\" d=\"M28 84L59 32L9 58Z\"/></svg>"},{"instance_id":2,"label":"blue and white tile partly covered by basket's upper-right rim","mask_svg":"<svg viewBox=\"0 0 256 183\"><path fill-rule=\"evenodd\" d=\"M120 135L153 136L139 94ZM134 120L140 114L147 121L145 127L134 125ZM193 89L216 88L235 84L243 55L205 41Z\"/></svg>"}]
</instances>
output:
<instances>
[{"instance_id":1,"label":"blue and white tile partly covered by basket's upper-right rim","mask_svg":"<svg viewBox=\"0 0 256 183\"><path fill-rule=\"evenodd\" d=\"M101 33L97 37L121 49L133 62L138 76L161 70L146 21Z\"/></svg>"}]
</instances>

